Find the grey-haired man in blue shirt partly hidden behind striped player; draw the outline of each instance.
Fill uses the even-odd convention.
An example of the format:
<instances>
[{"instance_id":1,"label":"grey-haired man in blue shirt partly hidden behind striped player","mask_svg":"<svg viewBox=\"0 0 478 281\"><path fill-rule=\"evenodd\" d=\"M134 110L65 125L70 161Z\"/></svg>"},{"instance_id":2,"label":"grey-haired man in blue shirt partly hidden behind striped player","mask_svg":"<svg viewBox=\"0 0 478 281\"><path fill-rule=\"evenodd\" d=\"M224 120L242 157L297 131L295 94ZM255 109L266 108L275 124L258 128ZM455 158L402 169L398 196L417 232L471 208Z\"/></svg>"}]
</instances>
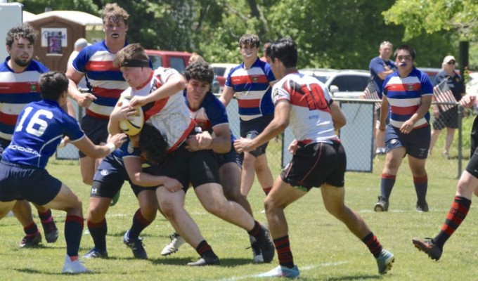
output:
<instances>
[{"instance_id":1,"label":"grey-haired man in blue shirt partly hidden behind striped player","mask_svg":"<svg viewBox=\"0 0 478 281\"><path fill-rule=\"evenodd\" d=\"M375 89L377 90L379 98L382 98L383 81L389 74L392 74L396 70L394 61L390 60L393 49L394 45L392 43L389 41L383 41L378 49L380 55L370 60L370 64L368 65L368 68L370 69L370 77ZM377 117L379 116L380 108L377 110ZM385 155L385 131L378 130L378 126L380 126L379 122L380 121L377 120L375 130L375 147L377 148L375 154Z\"/></svg>"}]
</instances>

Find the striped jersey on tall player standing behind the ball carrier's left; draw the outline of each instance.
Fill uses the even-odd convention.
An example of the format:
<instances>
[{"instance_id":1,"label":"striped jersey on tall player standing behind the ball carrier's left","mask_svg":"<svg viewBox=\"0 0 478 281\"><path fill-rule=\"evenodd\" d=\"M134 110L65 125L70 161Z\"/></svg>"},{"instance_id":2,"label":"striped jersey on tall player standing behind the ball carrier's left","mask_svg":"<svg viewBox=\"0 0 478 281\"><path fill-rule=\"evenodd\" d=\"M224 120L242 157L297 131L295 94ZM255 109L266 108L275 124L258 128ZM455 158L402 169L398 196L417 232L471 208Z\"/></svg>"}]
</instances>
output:
<instances>
[{"instance_id":1,"label":"striped jersey on tall player standing behind the ball carrier's left","mask_svg":"<svg viewBox=\"0 0 478 281\"><path fill-rule=\"evenodd\" d=\"M86 115L110 118L120 94L128 88L120 68L113 67L113 60L115 53L108 50L105 41L87 46L73 60L73 67L85 74L89 92L97 98L86 109Z\"/></svg>"}]
</instances>

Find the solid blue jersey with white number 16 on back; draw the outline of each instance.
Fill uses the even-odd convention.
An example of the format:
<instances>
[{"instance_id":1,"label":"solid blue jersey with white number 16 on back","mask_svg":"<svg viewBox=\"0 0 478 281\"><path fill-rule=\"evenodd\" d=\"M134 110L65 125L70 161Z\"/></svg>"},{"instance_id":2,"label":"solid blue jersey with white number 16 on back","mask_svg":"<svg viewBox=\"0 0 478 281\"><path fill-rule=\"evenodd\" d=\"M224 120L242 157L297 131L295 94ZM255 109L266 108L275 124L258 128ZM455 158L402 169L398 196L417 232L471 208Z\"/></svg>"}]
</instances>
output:
<instances>
[{"instance_id":1,"label":"solid blue jersey with white number 16 on back","mask_svg":"<svg viewBox=\"0 0 478 281\"><path fill-rule=\"evenodd\" d=\"M13 164L45 169L63 136L75 143L84 138L77 120L68 115L56 101L40 100L25 106L18 117L13 138L3 159Z\"/></svg>"}]
</instances>

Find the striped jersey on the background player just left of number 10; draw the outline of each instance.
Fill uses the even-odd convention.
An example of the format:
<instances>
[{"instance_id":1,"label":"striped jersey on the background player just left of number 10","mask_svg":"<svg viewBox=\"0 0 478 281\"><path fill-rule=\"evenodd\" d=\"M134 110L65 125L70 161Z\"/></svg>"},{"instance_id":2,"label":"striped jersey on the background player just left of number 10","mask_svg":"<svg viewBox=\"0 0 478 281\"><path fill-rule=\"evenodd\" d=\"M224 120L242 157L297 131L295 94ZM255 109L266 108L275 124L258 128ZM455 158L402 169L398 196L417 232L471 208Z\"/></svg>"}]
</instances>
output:
<instances>
[{"instance_id":1,"label":"striped jersey on the background player just left of number 10","mask_svg":"<svg viewBox=\"0 0 478 281\"><path fill-rule=\"evenodd\" d=\"M244 63L229 72L224 86L233 88L238 99L239 117L249 121L258 117L273 115L274 106L271 100L271 85L276 81L271 66L257 60L245 69Z\"/></svg>"}]
</instances>

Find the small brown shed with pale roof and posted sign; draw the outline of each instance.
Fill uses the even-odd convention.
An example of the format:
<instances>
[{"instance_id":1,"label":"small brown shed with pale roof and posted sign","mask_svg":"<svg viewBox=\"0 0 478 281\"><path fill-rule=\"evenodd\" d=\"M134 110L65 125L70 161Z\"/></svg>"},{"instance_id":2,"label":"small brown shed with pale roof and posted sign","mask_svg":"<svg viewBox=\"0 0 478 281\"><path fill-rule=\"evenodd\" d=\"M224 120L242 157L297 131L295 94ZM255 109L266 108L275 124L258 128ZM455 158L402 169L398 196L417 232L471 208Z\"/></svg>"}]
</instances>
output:
<instances>
[{"instance_id":1,"label":"small brown shed with pale roof and posted sign","mask_svg":"<svg viewBox=\"0 0 478 281\"><path fill-rule=\"evenodd\" d=\"M25 18L39 38L35 42L35 59L50 70L66 71L68 58L75 41L84 37L90 43L104 38L103 20L96 15L79 11L49 11Z\"/></svg>"}]
</instances>

